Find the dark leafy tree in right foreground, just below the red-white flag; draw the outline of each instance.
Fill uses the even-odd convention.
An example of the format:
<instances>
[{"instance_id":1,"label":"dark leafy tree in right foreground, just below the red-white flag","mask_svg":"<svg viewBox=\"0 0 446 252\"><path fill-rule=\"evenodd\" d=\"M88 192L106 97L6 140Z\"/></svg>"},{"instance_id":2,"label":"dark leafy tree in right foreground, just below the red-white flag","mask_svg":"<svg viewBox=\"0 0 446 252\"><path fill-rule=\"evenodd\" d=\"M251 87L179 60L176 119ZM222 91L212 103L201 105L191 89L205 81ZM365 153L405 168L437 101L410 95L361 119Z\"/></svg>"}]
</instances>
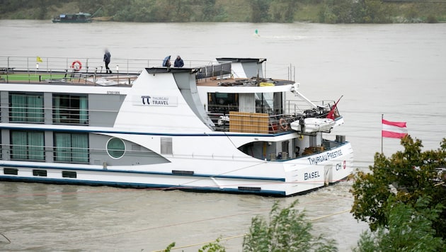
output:
<instances>
[{"instance_id":1,"label":"dark leafy tree in right foreground, just below the red-white flag","mask_svg":"<svg viewBox=\"0 0 446 252\"><path fill-rule=\"evenodd\" d=\"M389 224L387 210L389 197L396 202L415 207L420 197L429 196L432 200L427 207L446 205L446 190L442 173L438 168L446 167L446 138L440 149L421 151L421 140L410 136L401 139L404 151L397 151L387 158L384 154L374 155L371 173L358 172L351 189L354 196L352 211L355 219L368 222L370 229ZM433 221L436 236L446 236L446 211Z\"/></svg>"}]
</instances>

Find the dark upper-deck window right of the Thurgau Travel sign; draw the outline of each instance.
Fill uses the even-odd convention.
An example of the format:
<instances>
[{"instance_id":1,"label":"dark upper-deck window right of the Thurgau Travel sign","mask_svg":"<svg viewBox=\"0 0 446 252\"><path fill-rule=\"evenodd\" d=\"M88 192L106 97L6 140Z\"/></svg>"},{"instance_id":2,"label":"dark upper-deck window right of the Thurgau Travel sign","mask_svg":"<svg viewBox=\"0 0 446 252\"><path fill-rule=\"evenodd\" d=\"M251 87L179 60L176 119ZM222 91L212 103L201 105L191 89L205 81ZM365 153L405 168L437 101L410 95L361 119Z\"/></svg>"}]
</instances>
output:
<instances>
[{"instance_id":1,"label":"dark upper-deck window right of the Thurgau Travel sign","mask_svg":"<svg viewBox=\"0 0 446 252\"><path fill-rule=\"evenodd\" d=\"M210 113L239 111L239 96L236 93L207 93L207 106Z\"/></svg>"}]
</instances>

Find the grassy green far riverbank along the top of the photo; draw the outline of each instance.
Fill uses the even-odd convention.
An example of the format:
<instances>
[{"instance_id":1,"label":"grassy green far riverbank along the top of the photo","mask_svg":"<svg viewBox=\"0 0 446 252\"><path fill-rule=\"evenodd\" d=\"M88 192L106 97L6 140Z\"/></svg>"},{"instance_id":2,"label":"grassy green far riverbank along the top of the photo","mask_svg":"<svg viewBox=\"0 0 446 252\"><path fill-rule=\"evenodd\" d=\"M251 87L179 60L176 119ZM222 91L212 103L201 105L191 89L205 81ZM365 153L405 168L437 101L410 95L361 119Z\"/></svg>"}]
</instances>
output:
<instances>
[{"instance_id":1,"label":"grassy green far riverbank along the top of the photo","mask_svg":"<svg viewBox=\"0 0 446 252\"><path fill-rule=\"evenodd\" d=\"M185 23L438 23L446 21L444 1L40 1L5 0L1 19L52 19L60 13L96 13L118 22Z\"/></svg>"}]
</instances>

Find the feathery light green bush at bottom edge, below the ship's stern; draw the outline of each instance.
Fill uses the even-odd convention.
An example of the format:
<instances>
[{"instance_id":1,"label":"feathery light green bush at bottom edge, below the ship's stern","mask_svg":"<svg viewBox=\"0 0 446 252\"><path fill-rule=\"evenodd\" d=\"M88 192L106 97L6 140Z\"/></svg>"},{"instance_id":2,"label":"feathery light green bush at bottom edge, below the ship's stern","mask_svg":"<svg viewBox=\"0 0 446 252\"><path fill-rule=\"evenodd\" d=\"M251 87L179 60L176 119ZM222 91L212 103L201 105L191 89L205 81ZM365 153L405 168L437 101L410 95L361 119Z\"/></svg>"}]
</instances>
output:
<instances>
[{"instance_id":1,"label":"feathery light green bush at bottom edge, below the ship's stern","mask_svg":"<svg viewBox=\"0 0 446 252\"><path fill-rule=\"evenodd\" d=\"M243 251L337 251L334 240L311 234L311 223L305 220L305 214L293 209L297 202L282 210L275 202L269 222L253 217Z\"/></svg>"}]
</instances>

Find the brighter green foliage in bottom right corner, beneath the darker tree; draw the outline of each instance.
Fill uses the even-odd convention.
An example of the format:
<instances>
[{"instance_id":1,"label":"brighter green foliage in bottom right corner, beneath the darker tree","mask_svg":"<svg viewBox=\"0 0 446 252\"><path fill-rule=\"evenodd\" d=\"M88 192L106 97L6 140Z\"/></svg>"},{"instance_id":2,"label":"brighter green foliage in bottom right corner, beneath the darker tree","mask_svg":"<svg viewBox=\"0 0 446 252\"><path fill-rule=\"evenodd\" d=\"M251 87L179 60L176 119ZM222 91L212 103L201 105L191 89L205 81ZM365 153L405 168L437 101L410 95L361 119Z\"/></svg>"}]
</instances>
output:
<instances>
[{"instance_id":1,"label":"brighter green foliage in bottom right corner, beneath the darker tree","mask_svg":"<svg viewBox=\"0 0 446 252\"><path fill-rule=\"evenodd\" d=\"M391 196L387 201L387 228L361 234L358 248L353 251L445 251L444 242L435 237L432 227L444 207L440 204L429 207L430 197L420 197L413 207L395 200Z\"/></svg>"}]
</instances>

